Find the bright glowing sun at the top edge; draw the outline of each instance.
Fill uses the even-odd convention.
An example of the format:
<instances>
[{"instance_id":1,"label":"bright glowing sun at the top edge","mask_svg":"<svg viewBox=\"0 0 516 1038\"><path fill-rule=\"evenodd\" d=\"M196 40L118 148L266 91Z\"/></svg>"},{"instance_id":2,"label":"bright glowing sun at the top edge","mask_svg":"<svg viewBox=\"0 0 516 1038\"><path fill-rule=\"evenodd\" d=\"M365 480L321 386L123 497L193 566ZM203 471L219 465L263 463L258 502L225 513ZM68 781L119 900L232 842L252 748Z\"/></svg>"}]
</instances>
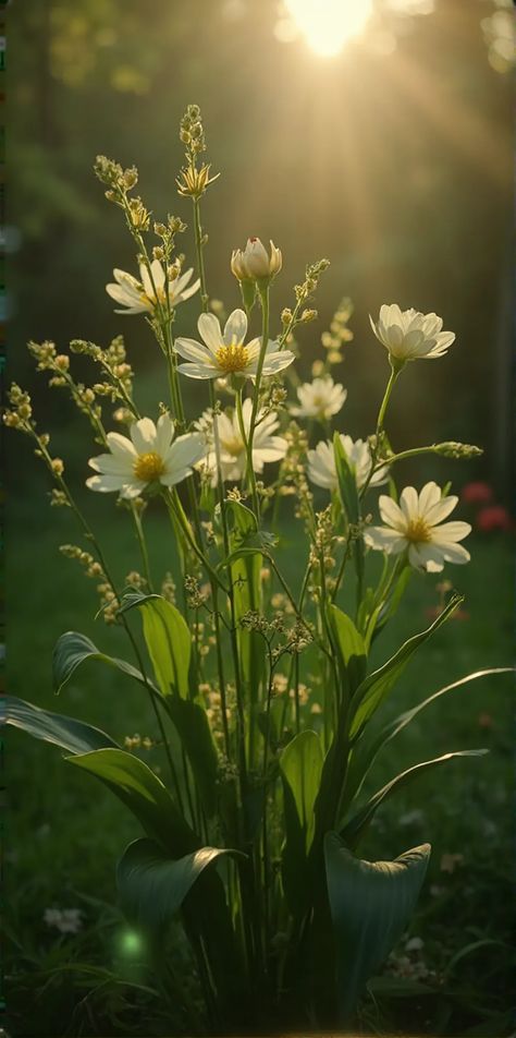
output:
<instances>
[{"instance_id":1,"label":"bright glowing sun at the top edge","mask_svg":"<svg viewBox=\"0 0 516 1038\"><path fill-rule=\"evenodd\" d=\"M373 0L285 0L285 7L311 49L333 58L364 32Z\"/></svg>"}]
</instances>

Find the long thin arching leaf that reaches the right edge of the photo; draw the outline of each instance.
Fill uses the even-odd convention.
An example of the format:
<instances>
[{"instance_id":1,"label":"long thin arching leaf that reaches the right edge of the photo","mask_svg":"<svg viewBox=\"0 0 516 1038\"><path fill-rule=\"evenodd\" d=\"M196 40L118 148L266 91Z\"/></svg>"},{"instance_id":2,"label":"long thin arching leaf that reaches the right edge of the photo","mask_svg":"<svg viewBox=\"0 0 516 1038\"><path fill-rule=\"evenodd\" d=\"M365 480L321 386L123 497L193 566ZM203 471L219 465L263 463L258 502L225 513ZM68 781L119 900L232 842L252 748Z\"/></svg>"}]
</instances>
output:
<instances>
[{"instance_id":1,"label":"long thin arching leaf that reaches the right edge of the photo","mask_svg":"<svg viewBox=\"0 0 516 1038\"><path fill-rule=\"evenodd\" d=\"M453 691L455 688L462 688L463 685L468 685L469 681L476 681L481 677L490 677L495 674L514 674L515 671L513 667L490 667L487 671L477 671L474 674L468 674L466 677L459 678L457 681L452 681L451 685L445 685L444 688L440 688L437 692L433 692L431 696L428 696L422 702L418 703L416 707L413 707L410 710L406 710L404 713L400 714L394 721L390 721L389 724L384 725L381 731L374 735L372 738L367 738L366 734L363 733L361 737L355 743L353 750L349 755L348 769L346 774L346 786L343 797L343 806L346 808L351 804L353 797L360 792L360 788L364 784L366 775L369 773L370 768L372 767L374 760L377 759L379 752L391 741L400 732L410 724L415 717L426 710L435 699L440 699L441 696L445 696L447 692Z\"/></svg>"}]
</instances>

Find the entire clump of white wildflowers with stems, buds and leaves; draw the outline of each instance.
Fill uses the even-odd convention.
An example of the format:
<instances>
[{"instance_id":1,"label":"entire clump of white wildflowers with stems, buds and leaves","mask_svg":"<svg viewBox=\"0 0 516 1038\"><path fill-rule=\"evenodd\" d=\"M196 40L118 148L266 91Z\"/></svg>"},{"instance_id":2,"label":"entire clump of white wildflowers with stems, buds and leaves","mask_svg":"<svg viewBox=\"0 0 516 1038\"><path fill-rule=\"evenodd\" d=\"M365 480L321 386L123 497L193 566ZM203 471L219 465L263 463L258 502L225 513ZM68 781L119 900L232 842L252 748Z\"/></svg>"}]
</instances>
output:
<instances>
[{"instance_id":1,"label":"entire clump of white wildflowers with stems, buds and leaves","mask_svg":"<svg viewBox=\"0 0 516 1038\"><path fill-rule=\"evenodd\" d=\"M410 659L462 596L453 593L426 630L377 668L369 662L372 644L381 644L415 572L469 559L460 543L468 523L449 521L457 498L435 482L403 486L402 462L480 451L450 443L392 447L388 411L405 364L442 357L454 339L434 314L396 305L371 319L389 360L376 427L355 440L335 431L335 420L346 424L347 389L334 367L351 338L348 300L323 336L314 381L300 384L295 375L296 329L317 315L311 303L325 260L307 267L293 305L278 310L281 251L249 239L231 256L241 305L222 327L221 305L210 309L201 222L204 195L217 178L205 161L197 106L186 110L180 136L186 154L177 189L192 206L195 242L184 273L176 245L183 219L152 220L134 194L135 168L105 157L95 167L133 238L139 270L135 277L115 269L107 291L119 313L146 321L155 336L169 388L160 413L139 412L121 337L107 348L74 340L71 355L51 342L29 345L38 370L90 423L97 446L93 474L85 460L87 486L116 495L120 521L134 524L142 572L130 574L124 587L17 385L4 415L33 439L53 480L51 504L75 515L87 550L67 544L62 552L96 581L100 621L127 638L125 660L110 654L109 632L99 632L98 645L75 631L62 635L56 687L63 689L88 660L115 668L121 710L125 683L136 681L147 696L149 735L119 745L84 722L12 697L7 721L64 749L66 761L101 780L143 829L120 858L118 886L131 924L149 936L152 968L169 997L182 998L163 963L167 930L179 916L202 995L202 1027L220 1034L279 1022L334 1026L351 1021L368 978L405 930L430 854L423 844L394 861L361 859L371 820L421 771L484 752L429 759L393 774L371 797L363 792L378 755L430 702L480 676L434 691L371 734L370 722L395 695ZM188 298L198 304L198 338L195 330L175 338L175 309ZM76 381L74 354L89 358L90 386ZM379 351L379 363L384 360ZM184 406L188 378L197 381L196 413ZM160 583L151 572L145 532L151 497L170 522L183 587L164 566ZM279 553L286 515L305 544L296 548L297 586ZM376 553L383 566L373 579ZM342 604L346 587L352 611ZM196 1019L193 1010L193 1028Z\"/></svg>"}]
</instances>

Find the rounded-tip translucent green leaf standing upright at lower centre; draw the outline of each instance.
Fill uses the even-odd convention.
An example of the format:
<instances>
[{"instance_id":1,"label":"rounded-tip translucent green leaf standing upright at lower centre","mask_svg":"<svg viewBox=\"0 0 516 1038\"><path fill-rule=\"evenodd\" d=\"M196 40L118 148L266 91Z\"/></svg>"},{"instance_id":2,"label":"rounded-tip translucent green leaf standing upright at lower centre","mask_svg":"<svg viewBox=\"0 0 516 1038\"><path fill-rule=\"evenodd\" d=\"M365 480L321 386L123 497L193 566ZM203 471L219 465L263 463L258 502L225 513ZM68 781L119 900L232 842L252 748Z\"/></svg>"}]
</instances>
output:
<instances>
[{"instance_id":1,"label":"rounded-tip translucent green leaf standing upright at lower centre","mask_svg":"<svg viewBox=\"0 0 516 1038\"><path fill-rule=\"evenodd\" d=\"M280 756L285 811L282 877L291 909L302 914L310 890L308 853L315 833L315 804L322 773L322 748L316 732L299 732Z\"/></svg>"}]
</instances>

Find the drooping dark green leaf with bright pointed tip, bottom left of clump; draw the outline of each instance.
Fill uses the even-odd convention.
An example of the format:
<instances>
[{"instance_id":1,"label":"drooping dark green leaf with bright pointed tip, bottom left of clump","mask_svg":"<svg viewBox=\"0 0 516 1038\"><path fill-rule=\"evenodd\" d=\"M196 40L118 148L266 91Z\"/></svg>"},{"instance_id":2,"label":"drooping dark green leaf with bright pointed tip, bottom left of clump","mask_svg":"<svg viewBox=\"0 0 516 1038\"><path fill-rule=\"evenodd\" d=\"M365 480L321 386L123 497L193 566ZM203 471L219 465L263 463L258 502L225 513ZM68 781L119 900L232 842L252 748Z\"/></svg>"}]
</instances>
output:
<instances>
[{"instance_id":1,"label":"drooping dark green leaf with bright pointed tip, bottom left of clump","mask_svg":"<svg viewBox=\"0 0 516 1038\"><path fill-rule=\"evenodd\" d=\"M125 914L136 925L152 929L164 927L179 912L204 869L221 855L235 853L200 847L173 859L152 840L135 840L116 867L116 885Z\"/></svg>"}]
</instances>

